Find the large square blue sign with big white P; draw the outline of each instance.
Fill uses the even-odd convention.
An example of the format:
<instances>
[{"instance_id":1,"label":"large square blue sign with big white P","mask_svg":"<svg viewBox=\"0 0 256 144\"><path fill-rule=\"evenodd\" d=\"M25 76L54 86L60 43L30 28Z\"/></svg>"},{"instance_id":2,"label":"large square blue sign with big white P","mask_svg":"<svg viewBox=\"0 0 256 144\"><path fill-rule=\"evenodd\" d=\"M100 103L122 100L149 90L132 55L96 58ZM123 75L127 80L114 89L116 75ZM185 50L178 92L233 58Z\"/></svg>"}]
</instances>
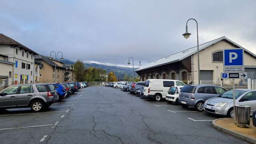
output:
<instances>
[{"instance_id":1,"label":"large square blue sign with big white P","mask_svg":"<svg viewBox=\"0 0 256 144\"><path fill-rule=\"evenodd\" d=\"M224 66L244 66L244 50L241 48L225 49Z\"/></svg>"}]
</instances>

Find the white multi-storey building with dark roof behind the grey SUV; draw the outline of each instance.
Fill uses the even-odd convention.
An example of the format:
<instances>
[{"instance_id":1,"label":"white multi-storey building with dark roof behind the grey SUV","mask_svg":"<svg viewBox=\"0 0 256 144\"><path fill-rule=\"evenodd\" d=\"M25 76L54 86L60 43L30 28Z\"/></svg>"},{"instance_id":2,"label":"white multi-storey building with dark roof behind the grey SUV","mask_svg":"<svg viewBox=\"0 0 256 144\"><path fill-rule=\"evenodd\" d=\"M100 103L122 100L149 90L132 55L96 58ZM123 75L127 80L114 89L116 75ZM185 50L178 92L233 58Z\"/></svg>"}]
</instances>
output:
<instances>
[{"instance_id":1,"label":"white multi-storey building with dark roof behind the grey SUV","mask_svg":"<svg viewBox=\"0 0 256 144\"><path fill-rule=\"evenodd\" d=\"M35 82L34 56L38 55L36 52L0 34L0 54L8 56L8 61L14 63L12 84Z\"/></svg>"}]
</instances>

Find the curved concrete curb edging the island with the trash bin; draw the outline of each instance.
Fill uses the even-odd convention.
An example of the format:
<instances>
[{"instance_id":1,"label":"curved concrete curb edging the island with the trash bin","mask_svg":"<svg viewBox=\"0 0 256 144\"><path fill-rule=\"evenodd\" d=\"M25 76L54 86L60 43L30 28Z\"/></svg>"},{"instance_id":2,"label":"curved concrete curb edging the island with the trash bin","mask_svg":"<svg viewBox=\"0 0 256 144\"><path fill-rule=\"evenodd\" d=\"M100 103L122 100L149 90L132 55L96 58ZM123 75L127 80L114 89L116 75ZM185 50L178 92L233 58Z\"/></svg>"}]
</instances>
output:
<instances>
[{"instance_id":1,"label":"curved concrete curb edging the island with the trash bin","mask_svg":"<svg viewBox=\"0 0 256 144\"><path fill-rule=\"evenodd\" d=\"M237 137L237 138L241 138L242 140L245 140L245 141L247 141L247 142L251 142L251 143L253 143L253 144L256 144L256 138L252 138L252 137L250 137L250 136L246 136L246 135L244 135L244 134L240 134L240 133L238 133L238 132L235 132L234 130L230 130L230 129L228 129L228 128L224 128L224 127L221 127L221 126L219 126L218 124L216 124L216 121L217 121L217 120L221 120L221 119L226 119L226 118L218 118L218 119L213 120L213 121L212 121L212 126L213 126L214 128L216 128L216 129L222 131L222 132L225 132L225 133L230 134L230 135L232 135L232 136L235 136L235 137Z\"/></svg>"}]
</instances>

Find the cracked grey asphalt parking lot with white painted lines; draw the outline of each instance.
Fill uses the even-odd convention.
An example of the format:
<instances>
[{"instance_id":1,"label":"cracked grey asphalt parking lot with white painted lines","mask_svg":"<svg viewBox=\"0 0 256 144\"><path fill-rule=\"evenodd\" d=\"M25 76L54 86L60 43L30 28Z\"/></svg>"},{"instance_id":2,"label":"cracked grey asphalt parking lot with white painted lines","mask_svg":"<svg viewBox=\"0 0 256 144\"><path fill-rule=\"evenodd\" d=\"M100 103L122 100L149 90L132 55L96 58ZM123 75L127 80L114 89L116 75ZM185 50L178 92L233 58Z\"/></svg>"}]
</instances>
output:
<instances>
[{"instance_id":1,"label":"cracked grey asphalt parking lot with white painted lines","mask_svg":"<svg viewBox=\"0 0 256 144\"><path fill-rule=\"evenodd\" d=\"M49 110L0 113L1 144L248 144L212 127L220 116L87 87Z\"/></svg>"}]
</instances>

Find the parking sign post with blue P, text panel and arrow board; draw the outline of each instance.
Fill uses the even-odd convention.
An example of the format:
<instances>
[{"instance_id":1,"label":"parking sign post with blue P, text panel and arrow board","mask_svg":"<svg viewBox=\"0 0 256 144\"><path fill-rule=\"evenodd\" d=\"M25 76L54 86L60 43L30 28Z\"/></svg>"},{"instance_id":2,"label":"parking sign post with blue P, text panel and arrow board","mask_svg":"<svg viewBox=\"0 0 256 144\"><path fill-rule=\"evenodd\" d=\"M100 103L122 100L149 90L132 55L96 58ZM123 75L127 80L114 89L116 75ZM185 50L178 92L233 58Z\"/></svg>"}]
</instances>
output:
<instances>
[{"instance_id":1,"label":"parking sign post with blue P, text panel and arrow board","mask_svg":"<svg viewBox=\"0 0 256 144\"><path fill-rule=\"evenodd\" d=\"M236 104L235 97L235 79L246 79L247 72L244 72L244 49L225 49L223 54L223 71L221 73L222 79L232 79L233 85L233 104ZM234 118L236 118L236 112L234 108Z\"/></svg>"}]
</instances>

